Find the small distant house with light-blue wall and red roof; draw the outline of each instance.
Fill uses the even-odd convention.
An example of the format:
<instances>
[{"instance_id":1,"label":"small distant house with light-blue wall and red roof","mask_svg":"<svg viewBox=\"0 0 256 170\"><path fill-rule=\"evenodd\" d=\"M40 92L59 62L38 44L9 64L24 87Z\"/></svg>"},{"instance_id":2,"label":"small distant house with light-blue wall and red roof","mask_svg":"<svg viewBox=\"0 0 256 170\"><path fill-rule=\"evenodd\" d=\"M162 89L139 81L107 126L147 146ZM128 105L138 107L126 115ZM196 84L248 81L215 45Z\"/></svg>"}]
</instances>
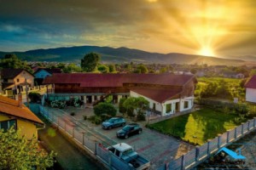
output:
<instances>
[{"instance_id":1,"label":"small distant house with light-blue wall and red roof","mask_svg":"<svg viewBox=\"0 0 256 170\"><path fill-rule=\"evenodd\" d=\"M41 85L45 77L49 77L54 73L61 73L61 69L38 68L38 70L34 72L35 82Z\"/></svg>"}]
</instances>

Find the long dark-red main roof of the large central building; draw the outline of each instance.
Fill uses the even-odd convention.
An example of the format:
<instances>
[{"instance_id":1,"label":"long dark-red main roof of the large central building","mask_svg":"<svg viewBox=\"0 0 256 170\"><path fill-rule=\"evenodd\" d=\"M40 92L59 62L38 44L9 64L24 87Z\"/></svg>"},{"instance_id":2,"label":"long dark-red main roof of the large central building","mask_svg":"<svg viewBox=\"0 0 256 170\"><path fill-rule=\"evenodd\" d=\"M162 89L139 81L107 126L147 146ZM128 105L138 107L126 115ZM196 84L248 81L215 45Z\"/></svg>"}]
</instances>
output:
<instances>
[{"instance_id":1,"label":"long dark-red main roof of the large central building","mask_svg":"<svg viewBox=\"0 0 256 170\"><path fill-rule=\"evenodd\" d=\"M196 82L194 75L60 73L46 77L44 84L77 83L81 87L122 87L123 83L183 86L191 80Z\"/></svg>"}]
</instances>

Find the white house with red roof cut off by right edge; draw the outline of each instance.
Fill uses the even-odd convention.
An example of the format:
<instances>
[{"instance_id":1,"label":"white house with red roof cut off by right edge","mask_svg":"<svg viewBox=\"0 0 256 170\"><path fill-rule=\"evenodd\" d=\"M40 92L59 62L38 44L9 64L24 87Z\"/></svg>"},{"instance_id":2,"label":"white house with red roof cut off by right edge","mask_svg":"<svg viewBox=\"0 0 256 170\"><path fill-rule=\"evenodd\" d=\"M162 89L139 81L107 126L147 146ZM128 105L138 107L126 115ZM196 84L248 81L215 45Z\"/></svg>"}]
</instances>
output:
<instances>
[{"instance_id":1,"label":"white house with red roof cut off by right edge","mask_svg":"<svg viewBox=\"0 0 256 170\"><path fill-rule=\"evenodd\" d=\"M256 75L245 84L246 101L256 103Z\"/></svg>"}]
</instances>

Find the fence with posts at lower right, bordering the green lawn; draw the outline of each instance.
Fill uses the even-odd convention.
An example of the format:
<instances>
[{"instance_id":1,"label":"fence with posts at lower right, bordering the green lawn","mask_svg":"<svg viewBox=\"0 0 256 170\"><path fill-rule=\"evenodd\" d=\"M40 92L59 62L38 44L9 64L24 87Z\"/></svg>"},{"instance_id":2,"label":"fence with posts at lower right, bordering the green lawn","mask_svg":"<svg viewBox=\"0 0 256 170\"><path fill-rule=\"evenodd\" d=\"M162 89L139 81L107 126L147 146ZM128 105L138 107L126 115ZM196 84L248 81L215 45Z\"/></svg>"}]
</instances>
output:
<instances>
[{"instance_id":1,"label":"fence with posts at lower right, bordering the green lawn","mask_svg":"<svg viewBox=\"0 0 256 170\"><path fill-rule=\"evenodd\" d=\"M239 127L226 133L218 135L218 137L209 140L206 144L197 146L194 150L190 150L189 153L166 163L166 165L160 167L159 170L190 169L195 167L220 148L230 144L231 141L240 139L243 135L254 129L256 129L256 118L242 123Z\"/></svg>"}]
</instances>

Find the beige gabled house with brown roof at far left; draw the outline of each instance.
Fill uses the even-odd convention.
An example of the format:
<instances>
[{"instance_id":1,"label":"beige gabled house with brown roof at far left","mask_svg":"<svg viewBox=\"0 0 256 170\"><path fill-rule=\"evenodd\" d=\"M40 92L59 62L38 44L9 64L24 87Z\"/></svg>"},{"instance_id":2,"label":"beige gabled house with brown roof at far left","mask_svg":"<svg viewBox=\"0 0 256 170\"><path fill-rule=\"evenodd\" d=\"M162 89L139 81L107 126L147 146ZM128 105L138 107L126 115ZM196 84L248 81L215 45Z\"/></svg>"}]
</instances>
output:
<instances>
[{"instance_id":1,"label":"beige gabled house with brown roof at far left","mask_svg":"<svg viewBox=\"0 0 256 170\"><path fill-rule=\"evenodd\" d=\"M1 71L1 84L3 94L12 96L16 90L19 93L24 91L26 86L33 87L34 76L24 69L3 69Z\"/></svg>"}]
</instances>

